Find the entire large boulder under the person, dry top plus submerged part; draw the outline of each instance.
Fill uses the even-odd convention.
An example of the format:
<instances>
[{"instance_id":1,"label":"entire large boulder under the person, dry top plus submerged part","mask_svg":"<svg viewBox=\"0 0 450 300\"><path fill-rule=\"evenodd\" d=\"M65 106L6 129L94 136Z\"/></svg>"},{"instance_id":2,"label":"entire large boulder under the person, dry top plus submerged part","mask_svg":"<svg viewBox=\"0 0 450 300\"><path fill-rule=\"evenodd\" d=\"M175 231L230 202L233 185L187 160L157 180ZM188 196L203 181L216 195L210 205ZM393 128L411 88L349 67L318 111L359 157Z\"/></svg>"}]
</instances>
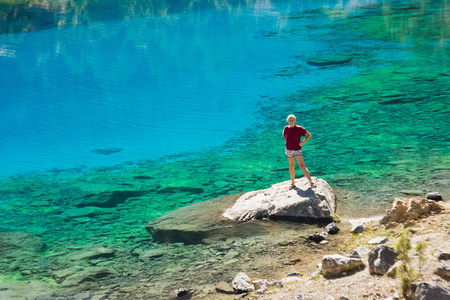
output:
<instances>
[{"instance_id":1,"label":"entire large boulder under the person, dry top plus submerged part","mask_svg":"<svg viewBox=\"0 0 450 300\"><path fill-rule=\"evenodd\" d=\"M324 180L318 179L314 189L310 188L306 179L297 180L295 189L289 190L289 186L290 181L286 181L267 190L194 203L150 221L146 229L157 242L208 244L224 241L229 237L266 235L272 222L235 220L265 218L319 223L332 219L336 199ZM229 209L224 214L227 208ZM290 226L288 223L278 225L280 228Z\"/></svg>"}]
</instances>

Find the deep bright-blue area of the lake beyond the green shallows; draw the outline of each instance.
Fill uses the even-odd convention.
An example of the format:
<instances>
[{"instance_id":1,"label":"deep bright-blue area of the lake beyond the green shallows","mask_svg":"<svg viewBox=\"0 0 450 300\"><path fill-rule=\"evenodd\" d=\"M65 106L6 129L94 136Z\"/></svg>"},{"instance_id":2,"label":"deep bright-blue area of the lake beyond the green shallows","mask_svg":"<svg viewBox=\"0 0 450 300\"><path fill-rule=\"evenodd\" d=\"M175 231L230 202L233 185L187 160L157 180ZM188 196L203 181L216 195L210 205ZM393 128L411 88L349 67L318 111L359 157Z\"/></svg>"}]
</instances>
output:
<instances>
[{"instance_id":1,"label":"deep bright-blue area of the lake beyond the green shallows","mask_svg":"<svg viewBox=\"0 0 450 300\"><path fill-rule=\"evenodd\" d=\"M330 5L179 12L180 4L174 13L126 19L105 6L90 11L91 21L80 13L60 26L0 35L0 176L220 147L258 120L262 97L354 73L273 76L292 57L328 47L308 35L307 23L304 34L283 37L293 25L283 16ZM92 152L105 148L117 151Z\"/></svg>"}]
</instances>

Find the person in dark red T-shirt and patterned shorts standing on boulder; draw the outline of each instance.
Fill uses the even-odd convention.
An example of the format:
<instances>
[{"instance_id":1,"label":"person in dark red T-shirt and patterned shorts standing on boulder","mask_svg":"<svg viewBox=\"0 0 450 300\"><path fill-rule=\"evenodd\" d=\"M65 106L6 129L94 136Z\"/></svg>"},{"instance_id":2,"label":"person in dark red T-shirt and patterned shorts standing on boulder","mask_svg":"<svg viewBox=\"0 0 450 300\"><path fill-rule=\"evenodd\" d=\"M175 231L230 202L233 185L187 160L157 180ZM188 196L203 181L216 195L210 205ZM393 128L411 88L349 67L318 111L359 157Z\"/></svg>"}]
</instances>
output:
<instances>
[{"instance_id":1,"label":"person in dark red T-shirt and patterned shorts standing on boulder","mask_svg":"<svg viewBox=\"0 0 450 300\"><path fill-rule=\"evenodd\" d=\"M289 175L291 176L291 186L290 190L295 188L295 160L303 172L303 175L309 180L311 184L311 188L314 187L313 182L311 181L311 175L309 175L309 170L305 166L305 161L303 160L302 154L302 146L311 138L311 133L309 133L302 126L298 126L295 124L297 119L294 115L289 115L287 117L287 122L289 125L284 127L283 137L286 142L286 151L285 154L289 161ZM301 137L306 136L306 138L302 141Z\"/></svg>"}]
</instances>

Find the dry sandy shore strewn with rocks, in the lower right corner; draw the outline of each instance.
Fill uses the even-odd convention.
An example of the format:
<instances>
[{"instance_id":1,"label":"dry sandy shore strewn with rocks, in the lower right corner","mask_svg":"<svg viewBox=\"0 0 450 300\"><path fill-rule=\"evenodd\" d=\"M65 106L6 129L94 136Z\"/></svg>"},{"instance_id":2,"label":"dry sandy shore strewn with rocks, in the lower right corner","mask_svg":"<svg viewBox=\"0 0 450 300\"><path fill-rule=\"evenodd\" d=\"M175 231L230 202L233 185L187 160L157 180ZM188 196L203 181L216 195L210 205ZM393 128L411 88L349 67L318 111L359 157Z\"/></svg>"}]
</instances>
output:
<instances>
[{"instance_id":1,"label":"dry sandy shore strewn with rocks, in the lower right corner","mask_svg":"<svg viewBox=\"0 0 450 300\"><path fill-rule=\"evenodd\" d=\"M442 200L440 196L438 199ZM292 272L280 281L251 280L239 273L231 290L241 292L241 296L234 299L450 299L449 216L448 202L396 199L393 209L379 222L370 222L367 228L359 224L362 230L354 226L340 254L324 256L316 272ZM415 253L410 264L418 273L410 290L404 293L397 278L401 266L398 241L402 236L409 236L414 246L425 245L424 250L416 246L420 254L411 250ZM224 285L221 283L216 290L230 291Z\"/></svg>"}]
</instances>

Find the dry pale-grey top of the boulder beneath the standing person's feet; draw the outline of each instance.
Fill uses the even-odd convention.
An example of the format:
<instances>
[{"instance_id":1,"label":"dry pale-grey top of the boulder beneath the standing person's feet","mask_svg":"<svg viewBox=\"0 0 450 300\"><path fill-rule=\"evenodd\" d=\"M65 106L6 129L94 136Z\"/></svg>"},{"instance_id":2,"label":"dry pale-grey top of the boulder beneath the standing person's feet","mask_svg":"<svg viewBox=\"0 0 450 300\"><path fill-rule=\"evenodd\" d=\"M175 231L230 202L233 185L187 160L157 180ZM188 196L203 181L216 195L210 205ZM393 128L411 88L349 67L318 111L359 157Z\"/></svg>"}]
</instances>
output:
<instances>
[{"instance_id":1,"label":"dry pale-grey top of the boulder beneath the standing person's feet","mask_svg":"<svg viewBox=\"0 0 450 300\"><path fill-rule=\"evenodd\" d=\"M296 187L284 181L265 190L248 192L223 216L232 220L253 219L290 220L300 222L330 221L336 210L336 196L323 179L313 177L316 187L311 188L306 178L297 179Z\"/></svg>"}]
</instances>

